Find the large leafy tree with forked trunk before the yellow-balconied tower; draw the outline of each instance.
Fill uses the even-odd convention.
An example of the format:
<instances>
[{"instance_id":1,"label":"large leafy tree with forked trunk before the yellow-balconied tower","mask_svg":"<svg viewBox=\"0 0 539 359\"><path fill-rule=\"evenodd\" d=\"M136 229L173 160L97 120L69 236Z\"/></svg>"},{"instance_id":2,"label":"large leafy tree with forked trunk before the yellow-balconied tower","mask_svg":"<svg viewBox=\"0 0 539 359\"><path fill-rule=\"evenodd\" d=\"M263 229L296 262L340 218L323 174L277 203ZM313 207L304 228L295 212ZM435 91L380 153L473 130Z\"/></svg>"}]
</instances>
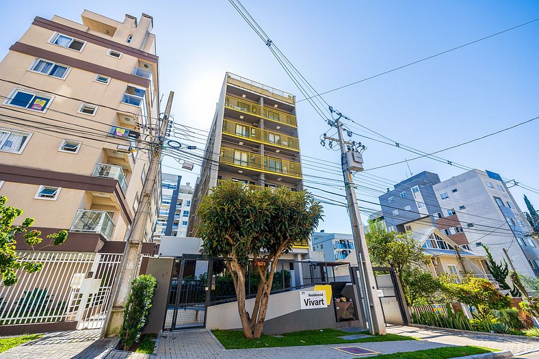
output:
<instances>
[{"instance_id":1,"label":"large leafy tree with forked trunk before the yellow-balconied tower","mask_svg":"<svg viewBox=\"0 0 539 359\"><path fill-rule=\"evenodd\" d=\"M247 338L262 334L278 258L310 237L323 210L306 191L287 187L249 191L224 181L202 198L198 235L206 254L223 257L232 274L241 325ZM254 260L253 260L254 259ZM252 313L245 308L249 261L260 276Z\"/></svg>"}]
</instances>

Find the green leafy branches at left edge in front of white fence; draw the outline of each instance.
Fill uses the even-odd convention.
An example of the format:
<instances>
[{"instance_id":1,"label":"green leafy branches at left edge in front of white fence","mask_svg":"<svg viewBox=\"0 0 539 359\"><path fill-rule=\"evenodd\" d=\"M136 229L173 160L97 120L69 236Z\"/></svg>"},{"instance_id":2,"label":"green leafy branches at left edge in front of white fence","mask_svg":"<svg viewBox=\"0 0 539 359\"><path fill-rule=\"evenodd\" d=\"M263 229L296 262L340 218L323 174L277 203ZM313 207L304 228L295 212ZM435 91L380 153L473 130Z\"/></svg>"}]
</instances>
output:
<instances>
[{"instance_id":1,"label":"green leafy branches at left edge in front of white fence","mask_svg":"<svg viewBox=\"0 0 539 359\"><path fill-rule=\"evenodd\" d=\"M7 201L8 198L0 196L0 275L3 284L9 287L18 281L15 273L17 269L22 268L31 273L39 271L43 264L34 261L23 261L24 258L19 258L16 251L17 242L15 236L17 234L23 235L25 243L33 248L34 245L41 243L41 232L39 230L29 230L34 224L34 218L31 217L26 218L21 226L14 226L14 220L23 214L23 210L6 206ZM67 236L68 232L61 230L58 233L48 235L47 238L52 239L53 245L60 245L66 241Z\"/></svg>"}]
</instances>

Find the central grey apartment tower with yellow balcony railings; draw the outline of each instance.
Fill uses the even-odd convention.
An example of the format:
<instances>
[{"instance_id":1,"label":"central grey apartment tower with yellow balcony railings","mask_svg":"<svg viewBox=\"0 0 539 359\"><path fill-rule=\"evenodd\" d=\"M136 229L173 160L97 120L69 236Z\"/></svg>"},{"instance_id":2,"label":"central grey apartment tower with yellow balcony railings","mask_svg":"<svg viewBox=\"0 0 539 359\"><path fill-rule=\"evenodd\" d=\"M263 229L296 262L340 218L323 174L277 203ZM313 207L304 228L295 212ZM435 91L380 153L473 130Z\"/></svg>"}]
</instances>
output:
<instances>
[{"instance_id":1,"label":"central grey apartment tower with yellow balcony railings","mask_svg":"<svg viewBox=\"0 0 539 359\"><path fill-rule=\"evenodd\" d=\"M200 199L226 180L252 191L278 186L302 189L293 94L226 73L194 190L189 237L196 237ZM306 240L295 251L307 248Z\"/></svg>"}]
</instances>

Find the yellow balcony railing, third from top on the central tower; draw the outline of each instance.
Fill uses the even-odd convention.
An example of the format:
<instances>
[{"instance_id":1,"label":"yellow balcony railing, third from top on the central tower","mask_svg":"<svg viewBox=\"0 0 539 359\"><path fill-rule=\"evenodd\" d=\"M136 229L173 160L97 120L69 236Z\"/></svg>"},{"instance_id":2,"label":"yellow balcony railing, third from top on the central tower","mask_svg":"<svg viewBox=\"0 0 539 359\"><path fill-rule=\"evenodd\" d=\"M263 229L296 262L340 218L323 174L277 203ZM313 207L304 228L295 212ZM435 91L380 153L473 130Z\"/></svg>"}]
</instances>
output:
<instances>
[{"instance_id":1,"label":"yellow balcony railing, third from top on the central tower","mask_svg":"<svg viewBox=\"0 0 539 359\"><path fill-rule=\"evenodd\" d=\"M301 164L285 159L258 155L233 148L221 148L221 163L248 170L280 174L293 178L302 178Z\"/></svg>"}]
</instances>

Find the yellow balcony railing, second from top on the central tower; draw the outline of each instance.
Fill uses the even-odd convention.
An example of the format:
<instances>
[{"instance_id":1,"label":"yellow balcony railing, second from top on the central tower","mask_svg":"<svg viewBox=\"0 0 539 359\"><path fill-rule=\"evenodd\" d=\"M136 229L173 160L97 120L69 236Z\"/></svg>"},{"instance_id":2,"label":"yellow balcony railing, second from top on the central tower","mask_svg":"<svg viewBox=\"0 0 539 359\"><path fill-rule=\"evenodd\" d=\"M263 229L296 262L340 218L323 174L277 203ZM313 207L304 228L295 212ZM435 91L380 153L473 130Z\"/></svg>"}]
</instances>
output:
<instances>
[{"instance_id":1,"label":"yellow balcony railing, second from top on the central tower","mask_svg":"<svg viewBox=\"0 0 539 359\"><path fill-rule=\"evenodd\" d=\"M289 148L296 151L300 150L298 139L295 137L259 129L258 127L248 126L247 124L242 124L231 120L223 120L223 133L228 133L228 135L233 135L235 137L250 139L254 142L260 142L263 144Z\"/></svg>"}]
</instances>

